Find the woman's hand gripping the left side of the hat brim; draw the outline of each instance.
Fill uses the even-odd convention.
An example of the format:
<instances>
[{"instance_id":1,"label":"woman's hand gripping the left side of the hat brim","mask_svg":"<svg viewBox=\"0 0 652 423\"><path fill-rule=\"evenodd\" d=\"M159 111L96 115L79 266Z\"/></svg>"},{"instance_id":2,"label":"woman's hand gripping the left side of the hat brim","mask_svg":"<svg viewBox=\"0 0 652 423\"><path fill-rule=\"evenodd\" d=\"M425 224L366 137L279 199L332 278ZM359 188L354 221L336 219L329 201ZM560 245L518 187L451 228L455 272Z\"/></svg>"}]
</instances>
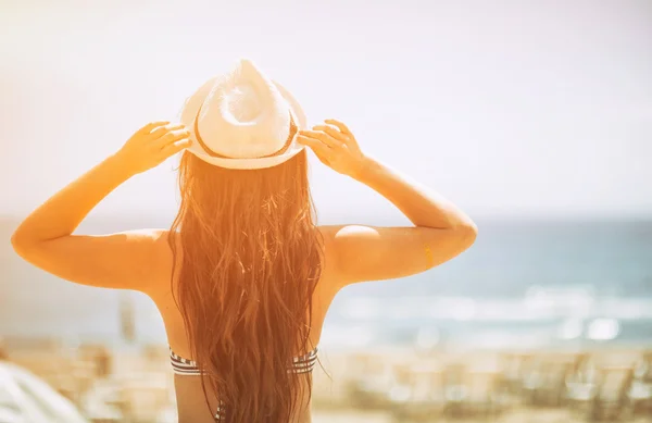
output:
<instances>
[{"instance_id":1,"label":"woman's hand gripping the left side of the hat brim","mask_svg":"<svg viewBox=\"0 0 652 423\"><path fill-rule=\"evenodd\" d=\"M115 154L134 174L146 172L190 147L190 132L181 124L152 122L138 129Z\"/></svg>"}]
</instances>

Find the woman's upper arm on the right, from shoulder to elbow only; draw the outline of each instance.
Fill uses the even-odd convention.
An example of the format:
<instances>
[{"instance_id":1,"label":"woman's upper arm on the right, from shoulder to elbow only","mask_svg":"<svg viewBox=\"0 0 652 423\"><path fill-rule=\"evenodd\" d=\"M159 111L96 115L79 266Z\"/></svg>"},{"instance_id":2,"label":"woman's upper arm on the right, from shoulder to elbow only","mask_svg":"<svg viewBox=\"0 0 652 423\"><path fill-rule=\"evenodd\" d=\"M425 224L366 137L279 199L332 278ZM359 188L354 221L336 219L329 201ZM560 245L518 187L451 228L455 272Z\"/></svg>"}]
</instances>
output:
<instances>
[{"instance_id":1,"label":"woman's upper arm on the right, from shoulder to elbow only","mask_svg":"<svg viewBox=\"0 0 652 423\"><path fill-rule=\"evenodd\" d=\"M319 226L327 269L336 288L366 281L393 279L425 272L453 259L475 241L468 226Z\"/></svg>"}]
</instances>

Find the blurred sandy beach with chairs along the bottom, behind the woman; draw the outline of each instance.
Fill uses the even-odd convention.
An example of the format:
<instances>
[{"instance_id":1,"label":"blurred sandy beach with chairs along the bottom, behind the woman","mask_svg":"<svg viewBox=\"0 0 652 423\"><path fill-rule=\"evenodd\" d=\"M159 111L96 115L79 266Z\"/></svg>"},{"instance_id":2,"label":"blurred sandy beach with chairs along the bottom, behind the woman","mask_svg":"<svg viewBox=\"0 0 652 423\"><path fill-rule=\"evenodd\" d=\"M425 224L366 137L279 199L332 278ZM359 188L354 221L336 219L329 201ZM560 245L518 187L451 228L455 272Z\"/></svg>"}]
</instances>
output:
<instances>
[{"instance_id":1,"label":"blurred sandy beach with chairs along the bottom, behind the woman","mask_svg":"<svg viewBox=\"0 0 652 423\"><path fill-rule=\"evenodd\" d=\"M70 348L58 343L20 346L15 340L13 348L11 341L5 345L12 362L46 380L92 421L118 415L129 422L175 422L173 375L163 345L116 349L101 345ZM601 393L591 398L602 398L604 407L598 410L605 414L602 421L652 419L652 372L648 369L652 358L641 348L325 349L321 362L323 369L315 368L313 380L314 422L580 422L591 420L593 413L591 401L573 398L573 387L582 383ZM601 387L605 382L590 376L595 371L616 377ZM617 377L629 372L632 380ZM550 377L542 376L546 373ZM561 377L563 386L553 375ZM616 403L614 398L620 397L628 402Z\"/></svg>"}]
</instances>

